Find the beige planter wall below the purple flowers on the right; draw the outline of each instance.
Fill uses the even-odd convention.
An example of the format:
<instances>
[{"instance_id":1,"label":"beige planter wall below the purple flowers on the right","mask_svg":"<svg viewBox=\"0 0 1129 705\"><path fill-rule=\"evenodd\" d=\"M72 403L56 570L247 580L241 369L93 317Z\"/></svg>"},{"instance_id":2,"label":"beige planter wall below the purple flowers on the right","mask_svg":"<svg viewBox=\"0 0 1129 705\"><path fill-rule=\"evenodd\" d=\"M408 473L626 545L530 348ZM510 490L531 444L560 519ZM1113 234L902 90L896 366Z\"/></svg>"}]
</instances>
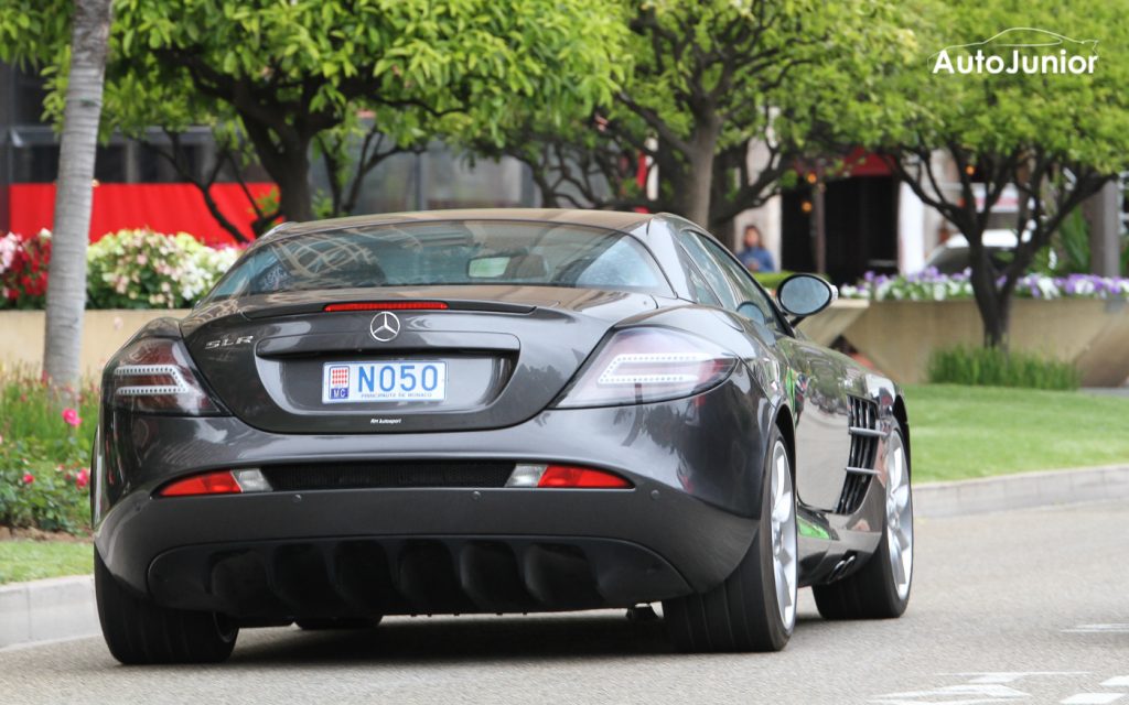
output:
<instances>
[{"instance_id":1,"label":"beige planter wall below the purple flowers on the right","mask_svg":"<svg viewBox=\"0 0 1129 705\"><path fill-rule=\"evenodd\" d=\"M843 336L879 370L914 384L935 350L980 345L983 327L971 300L873 301ZM1120 386L1129 378L1129 302L1016 299L1009 344L1074 362L1087 387Z\"/></svg>"}]
</instances>

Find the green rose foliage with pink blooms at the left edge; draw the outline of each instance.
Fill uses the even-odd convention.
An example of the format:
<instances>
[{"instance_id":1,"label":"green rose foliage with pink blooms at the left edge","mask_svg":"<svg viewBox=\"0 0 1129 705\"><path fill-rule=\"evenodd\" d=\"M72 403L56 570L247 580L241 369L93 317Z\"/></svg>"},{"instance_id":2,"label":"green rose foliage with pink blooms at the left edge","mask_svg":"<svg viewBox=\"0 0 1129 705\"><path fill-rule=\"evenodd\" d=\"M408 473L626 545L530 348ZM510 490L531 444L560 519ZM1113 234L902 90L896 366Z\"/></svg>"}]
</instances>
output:
<instances>
[{"instance_id":1,"label":"green rose foliage with pink blooms at the left edge","mask_svg":"<svg viewBox=\"0 0 1129 705\"><path fill-rule=\"evenodd\" d=\"M68 423L51 388L28 370L0 371L0 525L71 532L89 527L97 388L84 386L78 398L77 417Z\"/></svg>"}]
</instances>

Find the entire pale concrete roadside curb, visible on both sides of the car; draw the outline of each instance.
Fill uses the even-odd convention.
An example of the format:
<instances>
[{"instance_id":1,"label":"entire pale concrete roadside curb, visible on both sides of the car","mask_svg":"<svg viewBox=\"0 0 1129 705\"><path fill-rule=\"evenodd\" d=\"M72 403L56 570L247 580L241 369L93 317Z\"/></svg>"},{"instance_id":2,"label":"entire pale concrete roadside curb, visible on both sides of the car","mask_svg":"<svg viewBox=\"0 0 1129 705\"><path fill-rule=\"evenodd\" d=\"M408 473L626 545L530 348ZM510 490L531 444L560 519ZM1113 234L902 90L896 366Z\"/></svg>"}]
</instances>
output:
<instances>
[{"instance_id":1,"label":"entire pale concrete roadside curb, visible on both sides of the car","mask_svg":"<svg viewBox=\"0 0 1129 705\"><path fill-rule=\"evenodd\" d=\"M918 519L1129 499L1129 465L928 483L913 488ZM0 585L0 650L99 634L94 578Z\"/></svg>"}]
</instances>

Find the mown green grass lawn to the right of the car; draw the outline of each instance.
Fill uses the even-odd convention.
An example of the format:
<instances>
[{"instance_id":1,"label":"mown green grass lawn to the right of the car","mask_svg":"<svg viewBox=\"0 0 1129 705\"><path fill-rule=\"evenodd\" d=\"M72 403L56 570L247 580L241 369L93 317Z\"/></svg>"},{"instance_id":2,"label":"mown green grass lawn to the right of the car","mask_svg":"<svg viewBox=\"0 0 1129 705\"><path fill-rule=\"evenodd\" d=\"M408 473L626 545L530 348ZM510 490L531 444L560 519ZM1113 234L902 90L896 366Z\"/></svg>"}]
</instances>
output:
<instances>
[{"instance_id":1,"label":"mown green grass lawn to the right of the car","mask_svg":"<svg viewBox=\"0 0 1129 705\"><path fill-rule=\"evenodd\" d=\"M914 482L1129 462L1129 398L911 385Z\"/></svg>"}]
</instances>

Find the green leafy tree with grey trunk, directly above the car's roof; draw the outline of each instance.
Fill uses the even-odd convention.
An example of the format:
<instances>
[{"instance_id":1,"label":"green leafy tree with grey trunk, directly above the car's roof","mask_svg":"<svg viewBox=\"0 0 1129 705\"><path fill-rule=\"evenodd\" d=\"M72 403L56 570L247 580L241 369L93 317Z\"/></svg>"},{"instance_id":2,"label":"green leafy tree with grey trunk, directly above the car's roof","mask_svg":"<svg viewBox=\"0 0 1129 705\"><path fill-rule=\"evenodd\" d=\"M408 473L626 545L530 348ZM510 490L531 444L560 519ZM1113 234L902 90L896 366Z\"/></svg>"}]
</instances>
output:
<instances>
[{"instance_id":1,"label":"green leafy tree with grey trunk, directly above the car's roof","mask_svg":"<svg viewBox=\"0 0 1129 705\"><path fill-rule=\"evenodd\" d=\"M563 127L524 114L505 124L505 148L474 148L528 164L550 204L718 228L773 195L809 135L865 99L875 65L909 41L893 18L877 0L628 0L633 64L612 102ZM637 180L640 158L658 168L657 195Z\"/></svg>"}]
</instances>

